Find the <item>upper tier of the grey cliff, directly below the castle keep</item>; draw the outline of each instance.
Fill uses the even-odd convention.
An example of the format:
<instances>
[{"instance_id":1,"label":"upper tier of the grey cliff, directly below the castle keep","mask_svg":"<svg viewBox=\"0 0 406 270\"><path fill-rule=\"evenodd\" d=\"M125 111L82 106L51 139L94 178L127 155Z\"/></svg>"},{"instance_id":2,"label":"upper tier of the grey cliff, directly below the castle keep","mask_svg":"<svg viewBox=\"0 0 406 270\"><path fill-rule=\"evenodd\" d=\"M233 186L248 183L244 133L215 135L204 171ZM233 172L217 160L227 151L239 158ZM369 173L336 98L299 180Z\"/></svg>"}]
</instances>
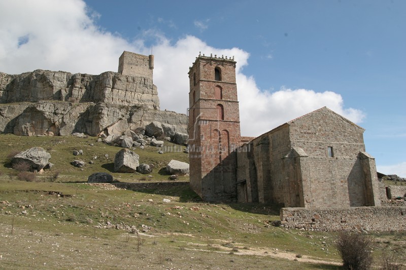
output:
<instances>
[{"instance_id":1,"label":"upper tier of the grey cliff, directly below the castle keep","mask_svg":"<svg viewBox=\"0 0 406 270\"><path fill-rule=\"evenodd\" d=\"M0 103L59 100L159 109L152 79L107 71L100 75L37 69L20 75L0 73Z\"/></svg>"}]
</instances>

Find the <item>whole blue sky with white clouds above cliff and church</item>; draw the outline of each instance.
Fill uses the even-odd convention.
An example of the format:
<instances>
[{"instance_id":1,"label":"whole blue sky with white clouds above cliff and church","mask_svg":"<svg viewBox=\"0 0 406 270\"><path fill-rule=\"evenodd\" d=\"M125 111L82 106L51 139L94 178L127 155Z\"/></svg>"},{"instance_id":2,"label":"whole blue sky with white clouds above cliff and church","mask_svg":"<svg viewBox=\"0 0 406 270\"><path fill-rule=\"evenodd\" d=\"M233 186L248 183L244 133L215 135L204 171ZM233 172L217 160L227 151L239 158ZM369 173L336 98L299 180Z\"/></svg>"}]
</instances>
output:
<instances>
[{"instance_id":1,"label":"whole blue sky with white clouds above cliff and church","mask_svg":"<svg viewBox=\"0 0 406 270\"><path fill-rule=\"evenodd\" d=\"M152 47L161 109L184 113L199 52L234 55L243 135L327 106L366 129L378 171L406 177L404 14L399 0L1 1L0 71L98 74Z\"/></svg>"}]
</instances>

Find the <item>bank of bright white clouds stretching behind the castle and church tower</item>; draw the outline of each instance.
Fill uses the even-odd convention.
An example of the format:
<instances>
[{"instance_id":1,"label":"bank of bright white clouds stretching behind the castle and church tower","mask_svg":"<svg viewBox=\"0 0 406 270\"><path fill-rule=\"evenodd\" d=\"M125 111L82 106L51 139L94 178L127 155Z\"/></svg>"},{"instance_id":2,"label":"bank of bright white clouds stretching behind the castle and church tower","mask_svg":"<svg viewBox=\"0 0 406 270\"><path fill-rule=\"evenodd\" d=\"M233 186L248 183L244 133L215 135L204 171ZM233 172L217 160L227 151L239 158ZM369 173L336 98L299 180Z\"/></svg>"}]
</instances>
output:
<instances>
[{"instance_id":1,"label":"bank of bright white clouds stretching behind the castle and church tower","mask_svg":"<svg viewBox=\"0 0 406 270\"><path fill-rule=\"evenodd\" d=\"M10 12L18 10L18 12ZM126 51L149 54L140 38L131 43L100 29L81 0L16 0L0 2L0 71L22 73L38 68L99 74L117 70L118 57ZM199 25L199 24L198 24ZM205 24L201 24L205 27ZM242 135L257 136L312 110L327 106L355 123L363 112L345 108L341 95L306 89L261 91L252 76L243 73L249 53L239 48L213 48L194 36L171 43L162 33L144 32L153 38L154 84L161 109L186 113L189 66L199 52L235 56Z\"/></svg>"}]
</instances>

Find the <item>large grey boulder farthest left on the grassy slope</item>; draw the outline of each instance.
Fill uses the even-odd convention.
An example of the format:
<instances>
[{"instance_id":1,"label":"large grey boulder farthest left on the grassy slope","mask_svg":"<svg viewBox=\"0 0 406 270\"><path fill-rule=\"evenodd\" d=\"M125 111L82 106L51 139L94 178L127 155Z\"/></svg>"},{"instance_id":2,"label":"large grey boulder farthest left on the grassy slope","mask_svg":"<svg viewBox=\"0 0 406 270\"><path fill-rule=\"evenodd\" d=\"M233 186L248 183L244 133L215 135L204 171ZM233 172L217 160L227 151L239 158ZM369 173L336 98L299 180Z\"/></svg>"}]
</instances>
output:
<instances>
[{"instance_id":1,"label":"large grey boulder farthest left on the grassy slope","mask_svg":"<svg viewBox=\"0 0 406 270\"><path fill-rule=\"evenodd\" d=\"M32 147L15 155L11 160L11 163L12 165L26 163L28 164L30 171L41 171L49 164L48 161L50 158L51 154L45 151L44 148Z\"/></svg>"}]
</instances>

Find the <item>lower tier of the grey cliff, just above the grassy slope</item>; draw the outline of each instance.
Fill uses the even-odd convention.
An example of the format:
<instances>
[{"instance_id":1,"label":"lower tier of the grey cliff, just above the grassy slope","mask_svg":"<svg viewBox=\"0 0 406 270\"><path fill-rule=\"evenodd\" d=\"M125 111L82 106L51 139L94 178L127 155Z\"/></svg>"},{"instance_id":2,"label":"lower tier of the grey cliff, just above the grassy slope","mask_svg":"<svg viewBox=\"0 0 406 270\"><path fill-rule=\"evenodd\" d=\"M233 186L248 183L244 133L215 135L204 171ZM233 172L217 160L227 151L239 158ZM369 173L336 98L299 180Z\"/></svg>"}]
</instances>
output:
<instances>
[{"instance_id":1,"label":"lower tier of the grey cliff, just above the grassy slope","mask_svg":"<svg viewBox=\"0 0 406 270\"><path fill-rule=\"evenodd\" d=\"M60 101L0 105L0 132L20 136L69 135L75 132L90 136L121 135L129 130L145 128L153 121L175 125L176 132L187 133L185 114L142 106Z\"/></svg>"}]
</instances>

